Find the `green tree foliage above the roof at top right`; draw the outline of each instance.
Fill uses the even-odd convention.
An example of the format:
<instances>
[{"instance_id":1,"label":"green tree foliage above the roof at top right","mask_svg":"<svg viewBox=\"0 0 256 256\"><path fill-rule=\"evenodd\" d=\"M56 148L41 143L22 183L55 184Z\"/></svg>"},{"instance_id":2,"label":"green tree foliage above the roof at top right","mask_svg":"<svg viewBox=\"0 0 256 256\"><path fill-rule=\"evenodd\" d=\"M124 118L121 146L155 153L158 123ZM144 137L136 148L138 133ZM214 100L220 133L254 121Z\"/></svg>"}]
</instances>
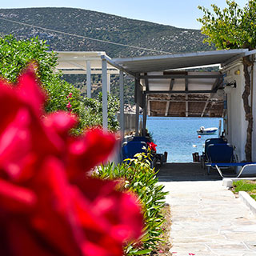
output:
<instances>
[{"instance_id":1,"label":"green tree foliage above the roof at top right","mask_svg":"<svg viewBox=\"0 0 256 256\"><path fill-rule=\"evenodd\" d=\"M256 2L250 0L241 9L234 1L226 0L227 7L221 10L211 5L213 12L198 6L204 12L198 22L202 23L202 34L208 36L204 41L214 44L218 49L237 49L256 47Z\"/></svg>"}]
</instances>

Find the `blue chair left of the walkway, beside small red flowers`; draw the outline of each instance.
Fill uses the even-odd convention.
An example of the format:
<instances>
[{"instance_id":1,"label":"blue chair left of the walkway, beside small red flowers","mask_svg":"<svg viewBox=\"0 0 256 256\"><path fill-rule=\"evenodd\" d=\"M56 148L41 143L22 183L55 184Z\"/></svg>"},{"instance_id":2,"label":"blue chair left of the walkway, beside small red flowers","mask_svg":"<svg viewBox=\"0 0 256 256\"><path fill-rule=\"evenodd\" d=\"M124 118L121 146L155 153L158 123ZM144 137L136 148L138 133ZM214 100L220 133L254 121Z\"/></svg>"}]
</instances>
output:
<instances>
[{"instance_id":1,"label":"blue chair left of the walkway, beside small red flowers","mask_svg":"<svg viewBox=\"0 0 256 256\"><path fill-rule=\"evenodd\" d=\"M146 152L146 142L130 141L122 143L122 160L134 158L134 154Z\"/></svg>"}]
</instances>

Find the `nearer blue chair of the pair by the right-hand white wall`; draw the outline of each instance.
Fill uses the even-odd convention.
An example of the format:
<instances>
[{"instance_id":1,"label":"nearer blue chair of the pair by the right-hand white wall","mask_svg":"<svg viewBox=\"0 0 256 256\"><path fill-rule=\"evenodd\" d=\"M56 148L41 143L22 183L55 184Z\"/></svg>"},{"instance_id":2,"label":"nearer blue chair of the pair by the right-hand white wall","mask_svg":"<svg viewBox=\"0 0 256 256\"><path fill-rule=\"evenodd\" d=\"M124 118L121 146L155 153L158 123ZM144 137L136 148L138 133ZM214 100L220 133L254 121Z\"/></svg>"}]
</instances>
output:
<instances>
[{"instance_id":1,"label":"nearer blue chair of the pair by the right-hand white wall","mask_svg":"<svg viewBox=\"0 0 256 256\"><path fill-rule=\"evenodd\" d=\"M233 146L225 143L210 144L207 148L208 163L207 174L210 174L210 168L215 168L211 163L230 163L235 162ZM226 166L226 169L230 166Z\"/></svg>"}]
</instances>

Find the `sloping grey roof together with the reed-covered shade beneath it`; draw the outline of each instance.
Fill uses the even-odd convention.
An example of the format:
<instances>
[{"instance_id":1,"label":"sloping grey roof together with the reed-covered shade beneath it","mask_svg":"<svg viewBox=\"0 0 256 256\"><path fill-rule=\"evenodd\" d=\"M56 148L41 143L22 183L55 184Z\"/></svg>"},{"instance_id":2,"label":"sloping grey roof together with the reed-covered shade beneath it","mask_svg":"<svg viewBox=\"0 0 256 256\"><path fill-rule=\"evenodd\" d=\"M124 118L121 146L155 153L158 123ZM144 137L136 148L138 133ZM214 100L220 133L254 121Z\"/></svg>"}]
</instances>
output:
<instances>
[{"instance_id":1,"label":"sloping grey roof together with the reed-covered shade beneath it","mask_svg":"<svg viewBox=\"0 0 256 256\"><path fill-rule=\"evenodd\" d=\"M146 94L148 115L222 117L224 94L217 91L223 86L223 74L186 71L186 69L213 65L226 66L248 53L247 49L214 50L188 54L115 58L112 61L139 79L143 94ZM143 101L135 100L142 106Z\"/></svg>"}]
</instances>

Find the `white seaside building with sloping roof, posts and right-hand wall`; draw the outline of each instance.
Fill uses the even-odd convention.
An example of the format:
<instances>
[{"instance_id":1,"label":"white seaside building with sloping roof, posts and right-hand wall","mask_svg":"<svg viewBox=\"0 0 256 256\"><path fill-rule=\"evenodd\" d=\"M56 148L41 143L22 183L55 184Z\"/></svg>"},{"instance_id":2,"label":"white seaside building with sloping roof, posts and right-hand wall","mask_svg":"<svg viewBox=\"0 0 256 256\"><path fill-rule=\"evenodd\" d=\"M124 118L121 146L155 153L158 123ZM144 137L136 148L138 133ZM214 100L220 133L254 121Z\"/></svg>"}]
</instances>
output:
<instances>
[{"instance_id":1,"label":"white seaside building with sloping roof, posts and right-hand wall","mask_svg":"<svg viewBox=\"0 0 256 256\"><path fill-rule=\"evenodd\" d=\"M134 77L136 102L136 134L139 107L146 116L222 117L228 142L235 146L238 160L246 160L246 130L242 94L245 86L242 58L254 58L256 51L216 50L199 53L168 54L149 57L111 59L104 52L60 52L58 69L65 74L102 73L103 127L107 127L106 91L110 90L110 74L120 76L120 120L124 133L123 73ZM221 66L220 72L195 72L187 68ZM256 161L256 74L250 66L253 134L252 161ZM82 73L79 73L82 72ZM90 79L89 79L90 80ZM90 81L87 95L90 97ZM224 91L223 91L224 89Z\"/></svg>"}]
</instances>

